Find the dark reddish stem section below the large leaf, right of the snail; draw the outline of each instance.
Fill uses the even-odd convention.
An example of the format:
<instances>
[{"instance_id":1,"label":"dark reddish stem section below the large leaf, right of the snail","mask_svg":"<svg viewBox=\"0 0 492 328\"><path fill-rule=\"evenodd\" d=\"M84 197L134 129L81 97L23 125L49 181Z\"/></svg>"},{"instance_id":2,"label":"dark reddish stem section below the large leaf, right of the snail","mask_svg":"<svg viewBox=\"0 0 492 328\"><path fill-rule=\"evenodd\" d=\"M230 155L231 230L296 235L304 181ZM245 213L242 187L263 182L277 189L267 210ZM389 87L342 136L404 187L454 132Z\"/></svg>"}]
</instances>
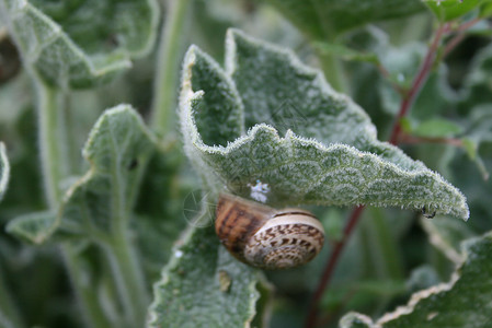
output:
<instances>
[{"instance_id":1,"label":"dark reddish stem section below the large leaf, right of the snail","mask_svg":"<svg viewBox=\"0 0 492 328\"><path fill-rule=\"evenodd\" d=\"M333 245L332 251L330 254L330 259L327 263L327 267L324 268L323 274L321 276L318 289L316 290L314 295L312 296L311 306L309 307L309 314L306 320L306 328L312 328L316 325L316 320L318 317L318 304L321 300L321 296L323 295L324 289L328 286L328 283L333 277L333 272L339 261L340 255L342 254L342 250L346 242L348 241L352 231L357 225L358 219L361 218L361 214L364 212L364 209L365 209L364 206L359 206L352 211L348 222L346 223L345 229L343 230L342 238L340 241L336 241L336 243Z\"/></svg>"}]
</instances>

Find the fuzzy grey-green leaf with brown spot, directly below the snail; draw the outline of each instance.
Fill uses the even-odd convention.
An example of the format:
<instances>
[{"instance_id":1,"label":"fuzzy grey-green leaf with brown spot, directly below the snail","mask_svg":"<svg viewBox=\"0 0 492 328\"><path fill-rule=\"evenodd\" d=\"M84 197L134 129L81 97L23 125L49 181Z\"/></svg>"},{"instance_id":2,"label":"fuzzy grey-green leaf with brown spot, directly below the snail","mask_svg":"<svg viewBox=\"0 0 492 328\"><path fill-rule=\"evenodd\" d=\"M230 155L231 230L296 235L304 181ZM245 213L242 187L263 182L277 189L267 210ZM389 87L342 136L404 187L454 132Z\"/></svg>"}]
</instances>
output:
<instances>
[{"instance_id":1,"label":"fuzzy grey-green leaf with brown spot, directly below the snail","mask_svg":"<svg viewBox=\"0 0 492 328\"><path fill-rule=\"evenodd\" d=\"M250 327L267 292L260 272L238 262L211 226L192 226L179 245L155 285L148 327Z\"/></svg>"}]
</instances>

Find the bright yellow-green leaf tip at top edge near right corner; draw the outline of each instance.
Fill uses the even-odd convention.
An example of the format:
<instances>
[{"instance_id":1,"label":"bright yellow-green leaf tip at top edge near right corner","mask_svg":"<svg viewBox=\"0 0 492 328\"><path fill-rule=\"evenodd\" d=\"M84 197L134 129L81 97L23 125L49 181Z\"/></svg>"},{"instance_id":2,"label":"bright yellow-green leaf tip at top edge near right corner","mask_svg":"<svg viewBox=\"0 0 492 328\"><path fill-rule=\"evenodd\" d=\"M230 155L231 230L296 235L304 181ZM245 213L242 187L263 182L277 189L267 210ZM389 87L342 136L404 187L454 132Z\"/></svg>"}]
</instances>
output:
<instances>
[{"instance_id":1,"label":"bright yellow-green leaf tip at top edge near right corner","mask_svg":"<svg viewBox=\"0 0 492 328\"><path fill-rule=\"evenodd\" d=\"M456 20L490 0L423 0L440 22Z\"/></svg>"}]
</instances>

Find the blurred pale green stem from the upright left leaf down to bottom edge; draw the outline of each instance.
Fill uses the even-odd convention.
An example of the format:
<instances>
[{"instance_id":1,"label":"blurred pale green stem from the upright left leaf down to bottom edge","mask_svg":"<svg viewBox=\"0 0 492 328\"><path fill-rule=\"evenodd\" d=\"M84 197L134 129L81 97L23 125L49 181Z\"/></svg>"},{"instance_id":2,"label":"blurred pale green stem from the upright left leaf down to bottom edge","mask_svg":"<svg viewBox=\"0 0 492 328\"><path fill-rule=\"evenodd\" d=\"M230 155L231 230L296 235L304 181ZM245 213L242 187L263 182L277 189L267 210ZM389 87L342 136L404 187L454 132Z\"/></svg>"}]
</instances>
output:
<instances>
[{"instance_id":1,"label":"blurred pale green stem from the upright left leaf down to bottom edge","mask_svg":"<svg viewBox=\"0 0 492 328\"><path fill-rule=\"evenodd\" d=\"M144 327L149 297L127 227L114 233L102 247L110 260L128 327Z\"/></svg>"}]
</instances>

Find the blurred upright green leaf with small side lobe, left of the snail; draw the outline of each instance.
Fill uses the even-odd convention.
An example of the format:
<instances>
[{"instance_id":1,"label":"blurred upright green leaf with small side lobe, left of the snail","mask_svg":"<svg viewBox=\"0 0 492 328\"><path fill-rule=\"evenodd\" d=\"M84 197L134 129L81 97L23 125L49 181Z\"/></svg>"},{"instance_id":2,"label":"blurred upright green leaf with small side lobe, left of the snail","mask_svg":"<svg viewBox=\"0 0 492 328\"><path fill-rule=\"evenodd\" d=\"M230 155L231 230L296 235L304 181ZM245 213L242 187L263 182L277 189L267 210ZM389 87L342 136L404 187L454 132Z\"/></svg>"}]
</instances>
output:
<instances>
[{"instance_id":1,"label":"blurred upright green leaf with small side lobe, left of the snail","mask_svg":"<svg viewBox=\"0 0 492 328\"><path fill-rule=\"evenodd\" d=\"M47 241L58 227L65 235L93 241L113 234L133 215L142 168L155 147L134 109L127 105L107 109L83 149L91 169L68 190L58 218L20 216L9 224L9 232L33 243Z\"/></svg>"}]
</instances>

